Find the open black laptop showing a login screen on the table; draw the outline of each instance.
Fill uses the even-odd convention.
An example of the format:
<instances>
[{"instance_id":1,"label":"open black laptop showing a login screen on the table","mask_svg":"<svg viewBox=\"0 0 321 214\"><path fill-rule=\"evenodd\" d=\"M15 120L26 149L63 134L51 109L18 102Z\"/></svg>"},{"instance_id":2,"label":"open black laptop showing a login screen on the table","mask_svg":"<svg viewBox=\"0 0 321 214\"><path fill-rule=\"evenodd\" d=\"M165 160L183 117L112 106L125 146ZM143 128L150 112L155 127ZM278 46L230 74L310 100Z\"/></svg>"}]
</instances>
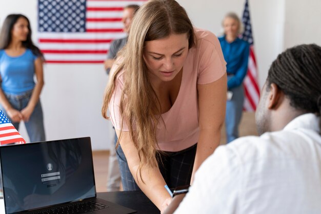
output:
<instances>
[{"instance_id":1,"label":"open black laptop showing a login screen on the table","mask_svg":"<svg viewBox=\"0 0 321 214\"><path fill-rule=\"evenodd\" d=\"M134 213L96 198L89 137L0 147L6 214Z\"/></svg>"}]
</instances>

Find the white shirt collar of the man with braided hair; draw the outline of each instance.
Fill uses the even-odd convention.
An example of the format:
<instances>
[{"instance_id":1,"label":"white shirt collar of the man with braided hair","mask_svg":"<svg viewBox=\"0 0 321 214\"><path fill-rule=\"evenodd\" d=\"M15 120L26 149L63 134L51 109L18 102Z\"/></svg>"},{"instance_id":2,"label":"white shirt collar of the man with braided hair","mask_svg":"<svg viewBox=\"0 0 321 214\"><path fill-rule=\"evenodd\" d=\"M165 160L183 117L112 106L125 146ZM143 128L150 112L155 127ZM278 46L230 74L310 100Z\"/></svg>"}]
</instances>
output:
<instances>
[{"instance_id":1,"label":"white shirt collar of the man with braided hair","mask_svg":"<svg viewBox=\"0 0 321 214\"><path fill-rule=\"evenodd\" d=\"M298 128L312 129L316 132L320 132L319 129L320 118L313 113L306 113L294 118L288 125L284 127L284 130L293 130Z\"/></svg>"}]
</instances>

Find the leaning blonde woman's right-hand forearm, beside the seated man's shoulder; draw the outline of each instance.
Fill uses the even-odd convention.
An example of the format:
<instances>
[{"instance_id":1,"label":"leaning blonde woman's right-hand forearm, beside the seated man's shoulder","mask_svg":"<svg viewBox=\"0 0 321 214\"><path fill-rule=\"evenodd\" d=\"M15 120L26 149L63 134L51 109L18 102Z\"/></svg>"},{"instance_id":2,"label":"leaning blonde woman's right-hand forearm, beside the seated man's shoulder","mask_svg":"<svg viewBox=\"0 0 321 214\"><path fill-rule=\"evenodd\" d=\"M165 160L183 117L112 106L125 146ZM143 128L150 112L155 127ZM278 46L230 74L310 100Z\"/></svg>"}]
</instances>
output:
<instances>
[{"instance_id":1,"label":"leaning blonde woman's right-hand forearm, beside the seated man's shoulder","mask_svg":"<svg viewBox=\"0 0 321 214\"><path fill-rule=\"evenodd\" d=\"M199 139L197 143L196 155L194 160L191 184L194 180L194 175L199 166L214 152L219 146L220 142L220 128L216 131L211 129L200 130Z\"/></svg>"}]
</instances>

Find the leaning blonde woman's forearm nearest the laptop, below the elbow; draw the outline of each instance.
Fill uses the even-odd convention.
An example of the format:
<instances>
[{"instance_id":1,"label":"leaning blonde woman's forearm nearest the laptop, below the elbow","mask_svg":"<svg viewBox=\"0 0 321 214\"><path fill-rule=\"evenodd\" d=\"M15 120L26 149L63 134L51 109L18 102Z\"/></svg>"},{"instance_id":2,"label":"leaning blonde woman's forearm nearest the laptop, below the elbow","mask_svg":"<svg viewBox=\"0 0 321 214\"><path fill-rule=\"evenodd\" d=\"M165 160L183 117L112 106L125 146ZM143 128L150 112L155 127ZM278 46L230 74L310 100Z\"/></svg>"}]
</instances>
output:
<instances>
[{"instance_id":1,"label":"leaning blonde woman's forearm nearest the laptop, below the elbow","mask_svg":"<svg viewBox=\"0 0 321 214\"><path fill-rule=\"evenodd\" d=\"M141 179L139 171L137 171L138 166L130 168L139 188L141 188L141 190L157 206L158 209L161 209L164 201L171 196L164 187L166 183L158 167L149 168L145 166L142 169L144 183Z\"/></svg>"}]
</instances>

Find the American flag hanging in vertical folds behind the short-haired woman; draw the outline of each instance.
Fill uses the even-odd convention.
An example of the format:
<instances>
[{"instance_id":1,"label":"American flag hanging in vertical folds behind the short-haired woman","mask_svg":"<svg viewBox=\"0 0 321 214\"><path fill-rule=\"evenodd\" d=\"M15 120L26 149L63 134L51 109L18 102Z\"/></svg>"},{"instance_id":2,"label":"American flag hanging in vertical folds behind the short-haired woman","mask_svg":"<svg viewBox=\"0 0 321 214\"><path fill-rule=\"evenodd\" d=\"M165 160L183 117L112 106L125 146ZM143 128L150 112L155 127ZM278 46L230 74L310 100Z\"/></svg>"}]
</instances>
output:
<instances>
[{"instance_id":1,"label":"American flag hanging in vertical folds behind the short-haired woman","mask_svg":"<svg viewBox=\"0 0 321 214\"><path fill-rule=\"evenodd\" d=\"M244 110L255 111L259 100L259 87L258 87L258 76L257 76L257 65L254 54L253 46L253 35L252 26L250 20L250 11L248 0L245 1L245 7L243 12L242 22L244 24L244 32L240 36L243 40L250 43L250 55L248 63L247 75L244 79L244 90L245 90L245 100L244 100Z\"/></svg>"}]
</instances>

